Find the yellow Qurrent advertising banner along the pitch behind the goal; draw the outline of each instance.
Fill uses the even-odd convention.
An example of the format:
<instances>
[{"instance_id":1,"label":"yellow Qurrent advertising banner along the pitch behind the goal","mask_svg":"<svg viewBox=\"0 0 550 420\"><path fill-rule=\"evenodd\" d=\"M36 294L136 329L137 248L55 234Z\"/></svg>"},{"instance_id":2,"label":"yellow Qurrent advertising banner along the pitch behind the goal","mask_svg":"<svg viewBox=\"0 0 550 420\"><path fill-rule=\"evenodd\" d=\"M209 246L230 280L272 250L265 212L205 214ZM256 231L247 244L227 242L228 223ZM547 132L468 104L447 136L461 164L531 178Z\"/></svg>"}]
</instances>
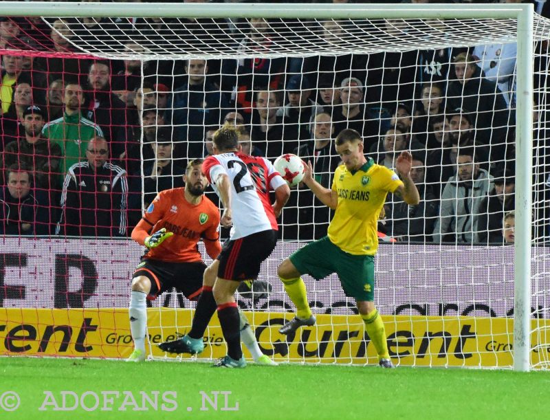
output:
<instances>
[{"instance_id":1,"label":"yellow Qurrent advertising banner along the pitch behind the goal","mask_svg":"<svg viewBox=\"0 0 550 420\"><path fill-rule=\"evenodd\" d=\"M157 344L184 335L190 309L148 309L148 351L173 357ZM291 313L247 313L261 349L278 362L375 364L374 346L358 316L319 315L314 327L287 338L278 328ZM509 318L384 316L388 349L405 366L506 367L513 364ZM550 360L550 320L532 320L531 362ZM214 315L199 359L225 355ZM127 309L0 308L0 355L128 357L133 349ZM245 351L245 355L250 355ZM189 357L184 355L184 357Z\"/></svg>"}]
</instances>

